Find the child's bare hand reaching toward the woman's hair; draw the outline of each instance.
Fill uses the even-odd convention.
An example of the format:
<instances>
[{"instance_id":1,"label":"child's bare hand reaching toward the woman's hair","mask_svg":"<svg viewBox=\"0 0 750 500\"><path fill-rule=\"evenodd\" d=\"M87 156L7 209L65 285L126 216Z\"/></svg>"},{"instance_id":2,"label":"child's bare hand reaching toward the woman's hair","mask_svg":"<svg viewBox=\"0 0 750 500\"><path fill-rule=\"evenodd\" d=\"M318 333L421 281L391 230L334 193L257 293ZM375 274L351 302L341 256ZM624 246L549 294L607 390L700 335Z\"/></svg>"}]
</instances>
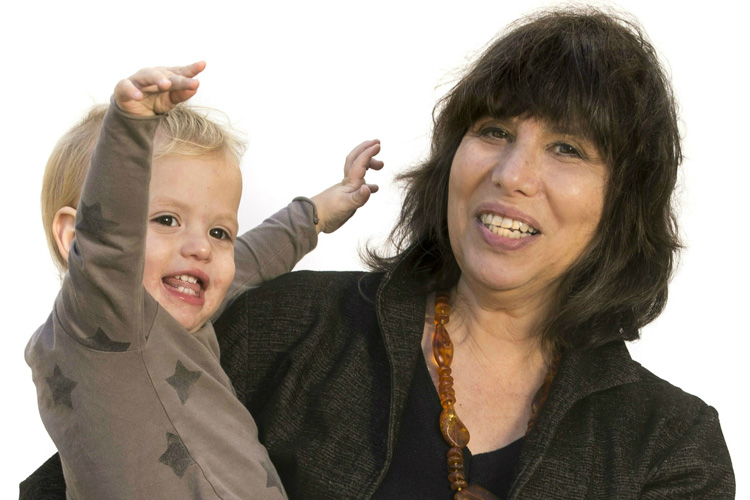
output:
<instances>
[{"instance_id":1,"label":"child's bare hand reaching toward the woman's hair","mask_svg":"<svg viewBox=\"0 0 750 500\"><path fill-rule=\"evenodd\" d=\"M365 182L365 173L368 169L383 168L383 162L373 158L379 152L380 141L377 139L354 148L346 157L344 180L312 197L318 210L319 221L315 229L319 233L332 233L340 228L378 190L377 184Z\"/></svg>"}]
</instances>

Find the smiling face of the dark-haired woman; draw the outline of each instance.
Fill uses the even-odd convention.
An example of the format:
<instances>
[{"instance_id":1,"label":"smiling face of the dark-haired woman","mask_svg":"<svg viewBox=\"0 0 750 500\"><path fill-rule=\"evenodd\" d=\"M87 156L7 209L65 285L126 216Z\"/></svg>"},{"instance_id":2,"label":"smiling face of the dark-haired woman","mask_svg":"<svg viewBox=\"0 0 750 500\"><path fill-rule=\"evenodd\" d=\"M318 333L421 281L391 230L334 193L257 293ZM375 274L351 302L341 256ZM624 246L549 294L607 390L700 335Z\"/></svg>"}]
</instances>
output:
<instances>
[{"instance_id":1,"label":"smiling face of the dark-haired woman","mask_svg":"<svg viewBox=\"0 0 750 500\"><path fill-rule=\"evenodd\" d=\"M554 293L594 236L607 176L582 137L533 118L479 120L449 180L448 231L461 280L476 293Z\"/></svg>"}]
</instances>

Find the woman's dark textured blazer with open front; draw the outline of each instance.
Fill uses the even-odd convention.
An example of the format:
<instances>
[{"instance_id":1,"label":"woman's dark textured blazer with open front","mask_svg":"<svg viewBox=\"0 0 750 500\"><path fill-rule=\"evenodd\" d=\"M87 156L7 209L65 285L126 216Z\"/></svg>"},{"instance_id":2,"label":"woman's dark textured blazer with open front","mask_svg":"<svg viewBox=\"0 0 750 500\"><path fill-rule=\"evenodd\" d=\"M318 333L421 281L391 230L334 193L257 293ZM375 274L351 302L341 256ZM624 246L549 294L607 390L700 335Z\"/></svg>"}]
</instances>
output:
<instances>
[{"instance_id":1,"label":"woman's dark textured blazer with open front","mask_svg":"<svg viewBox=\"0 0 750 500\"><path fill-rule=\"evenodd\" d=\"M216 324L222 364L290 498L378 488L422 362L418 290L398 268L297 272L246 293ZM53 459L21 497L63 498L61 481ZM734 498L734 488L716 411L614 342L563 356L507 500Z\"/></svg>"}]
</instances>

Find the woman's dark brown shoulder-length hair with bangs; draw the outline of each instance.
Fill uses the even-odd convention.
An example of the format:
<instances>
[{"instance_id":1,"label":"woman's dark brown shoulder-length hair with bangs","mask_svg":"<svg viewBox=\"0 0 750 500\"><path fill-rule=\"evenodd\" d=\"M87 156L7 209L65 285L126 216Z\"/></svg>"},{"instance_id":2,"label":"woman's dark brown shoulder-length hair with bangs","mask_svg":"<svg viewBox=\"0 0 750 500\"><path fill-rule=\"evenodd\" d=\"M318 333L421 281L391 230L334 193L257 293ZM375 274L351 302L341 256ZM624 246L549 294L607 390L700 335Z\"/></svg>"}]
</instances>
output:
<instances>
[{"instance_id":1,"label":"woman's dark brown shoulder-length hair with bangs","mask_svg":"<svg viewBox=\"0 0 750 500\"><path fill-rule=\"evenodd\" d=\"M428 290L455 285L448 177L469 127L483 117L547 120L591 140L610 168L596 234L562 276L542 325L548 350L635 340L667 302L680 248L672 192L682 161L669 79L638 24L596 9L536 14L512 24L436 105L429 158L400 175L405 198L375 269L404 260Z\"/></svg>"}]
</instances>

